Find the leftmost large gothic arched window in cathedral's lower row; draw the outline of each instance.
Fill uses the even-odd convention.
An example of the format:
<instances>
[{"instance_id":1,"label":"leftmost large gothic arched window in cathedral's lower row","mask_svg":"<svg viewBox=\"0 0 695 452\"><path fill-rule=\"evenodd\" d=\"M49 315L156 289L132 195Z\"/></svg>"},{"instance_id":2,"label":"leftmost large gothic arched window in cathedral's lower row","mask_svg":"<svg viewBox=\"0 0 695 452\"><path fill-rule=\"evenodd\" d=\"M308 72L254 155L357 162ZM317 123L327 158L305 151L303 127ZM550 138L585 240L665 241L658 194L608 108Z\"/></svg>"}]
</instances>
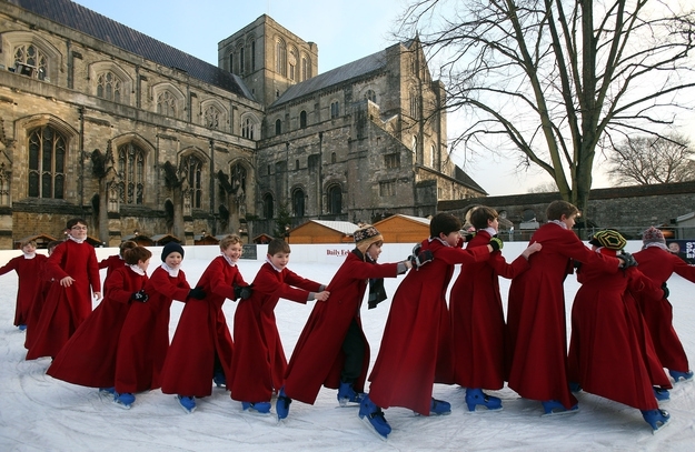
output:
<instances>
[{"instance_id":1,"label":"leftmost large gothic arched window in cathedral's lower row","mask_svg":"<svg viewBox=\"0 0 695 452\"><path fill-rule=\"evenodd\" d=\"M29 132L29 197L63 199L66 139L50 125Z\"/></svg>"}]
</instances>

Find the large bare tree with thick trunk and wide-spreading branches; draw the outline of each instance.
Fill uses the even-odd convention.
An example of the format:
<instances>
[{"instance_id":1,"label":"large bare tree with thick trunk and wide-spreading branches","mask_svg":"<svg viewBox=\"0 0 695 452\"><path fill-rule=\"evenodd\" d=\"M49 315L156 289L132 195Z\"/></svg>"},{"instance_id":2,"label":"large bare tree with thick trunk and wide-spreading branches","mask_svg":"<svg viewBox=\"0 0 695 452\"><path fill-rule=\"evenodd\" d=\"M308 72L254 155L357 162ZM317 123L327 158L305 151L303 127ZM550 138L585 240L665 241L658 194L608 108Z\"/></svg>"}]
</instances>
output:
<instances>
[{"instance_id":1,"label":"large bare tree with thick trunk and wide-spreading branches","mask_svg":"<svg viewBox=\"0 0 695 452\"><path fill-rule=\"evenodd\" d=\"M688 4L419 0L398 33L418 36L429 60L440 61L439 108L467 121L455 151L514 151L584 209L597 149L635 131L658 135L685 108L683 91L695 87Z\"/></svg>"}]
</instances>

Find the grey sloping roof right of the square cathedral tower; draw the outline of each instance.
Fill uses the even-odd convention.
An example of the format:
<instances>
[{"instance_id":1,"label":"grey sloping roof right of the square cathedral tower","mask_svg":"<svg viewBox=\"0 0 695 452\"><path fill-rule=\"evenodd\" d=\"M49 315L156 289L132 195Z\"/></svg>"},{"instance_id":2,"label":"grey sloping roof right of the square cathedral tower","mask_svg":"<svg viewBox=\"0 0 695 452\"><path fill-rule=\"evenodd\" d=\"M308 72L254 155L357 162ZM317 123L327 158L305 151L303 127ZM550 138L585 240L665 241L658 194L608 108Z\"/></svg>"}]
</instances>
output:
<instances>
[{"instance_id":1,"label":"grey sloping roof right of the square cathedral tower","mask_svg":"<svg viewBox=\"0 0 695 452\"><path fill-rule=\"evenodd\" d=\"M350 63L342 64L339 68L331 69L328 72L324 72L300 83L292 84L287 89L287 91L282 93L282 96L280 96L275 102L272 102L272 106L270 107L289 102L305 94L319 91L324 88L341 83L346 80L350 80L369 72L374 72L384 68L385 66L386 50L381 50Z\"/></svg>"}]
</instances>

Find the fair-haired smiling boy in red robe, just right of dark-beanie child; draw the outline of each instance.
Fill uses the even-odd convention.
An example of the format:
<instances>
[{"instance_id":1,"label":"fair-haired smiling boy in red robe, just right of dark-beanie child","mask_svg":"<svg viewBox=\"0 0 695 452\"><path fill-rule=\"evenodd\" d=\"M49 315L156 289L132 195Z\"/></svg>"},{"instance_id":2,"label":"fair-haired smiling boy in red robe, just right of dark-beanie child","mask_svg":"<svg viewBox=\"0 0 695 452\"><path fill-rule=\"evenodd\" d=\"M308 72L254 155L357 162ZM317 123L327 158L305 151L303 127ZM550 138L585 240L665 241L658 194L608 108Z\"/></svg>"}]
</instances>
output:
<instances>
[{"instance_id":1,"label":"fair-haired smiling boy in red robe, just right of dark-beanie child","mask_svg":"<svg viewBox=\"0 0 695 452\"><path fill-rule=\"evenodd\" d=\"M183 307L162 369L161 392L177 394L188 413L196 410L196 398L212 393L211 381L224 386L231 376L234 342L222 304L226 299L246 300L252 292L237 265L241 239L227 235L219 248L221 255L210 262L197 284L207 297Z\"/></svg>"}]
</instances>

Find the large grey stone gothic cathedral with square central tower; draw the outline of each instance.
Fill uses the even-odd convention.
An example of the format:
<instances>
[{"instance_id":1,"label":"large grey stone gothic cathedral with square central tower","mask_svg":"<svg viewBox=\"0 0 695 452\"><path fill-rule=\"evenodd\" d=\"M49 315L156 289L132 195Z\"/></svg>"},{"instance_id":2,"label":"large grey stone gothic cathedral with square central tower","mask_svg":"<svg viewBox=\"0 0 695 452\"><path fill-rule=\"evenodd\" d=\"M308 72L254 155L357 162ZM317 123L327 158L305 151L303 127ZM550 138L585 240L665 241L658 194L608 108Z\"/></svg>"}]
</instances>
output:
<instances>
[{"instance_id":1,"label":"large grey stone gothic cathedral with square central tower","mask_svg":"<svg viewBox=\"0 0 695 452\"><path fill-rule=\"evenodd\" d=\"M0 0L0 249L73 217L105 245L427 217L486 194L444 102L417 39L319 74L261 16L216 67L69 0Z\"/></svg>"}]
</instances>

